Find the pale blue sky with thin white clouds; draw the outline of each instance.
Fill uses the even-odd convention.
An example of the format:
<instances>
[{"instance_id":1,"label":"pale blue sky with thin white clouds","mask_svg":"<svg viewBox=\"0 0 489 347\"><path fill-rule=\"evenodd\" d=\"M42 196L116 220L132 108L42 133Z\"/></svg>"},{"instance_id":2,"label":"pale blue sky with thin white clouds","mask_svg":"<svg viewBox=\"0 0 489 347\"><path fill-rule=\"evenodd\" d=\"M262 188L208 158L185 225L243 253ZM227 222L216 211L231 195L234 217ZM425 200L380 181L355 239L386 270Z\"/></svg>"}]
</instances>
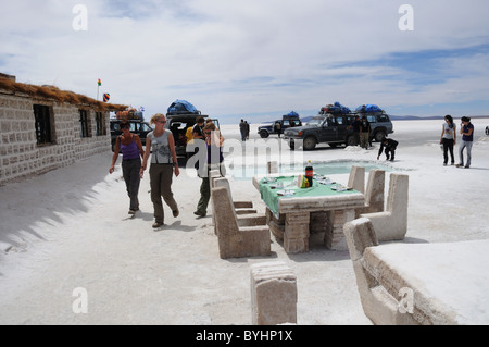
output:
<instances>
[{"instance_id":1,"label":"pale blue sky with thin white clouds","mask_svg":"<svg viewBox=\"0 0 489 347\"><path fill-rule=\"evenodd\" d=\"M0 72L222 124L489 114L487 0L0 0ZM98 88L98 79L102 85Z\"/></svg>"}]
</instances>

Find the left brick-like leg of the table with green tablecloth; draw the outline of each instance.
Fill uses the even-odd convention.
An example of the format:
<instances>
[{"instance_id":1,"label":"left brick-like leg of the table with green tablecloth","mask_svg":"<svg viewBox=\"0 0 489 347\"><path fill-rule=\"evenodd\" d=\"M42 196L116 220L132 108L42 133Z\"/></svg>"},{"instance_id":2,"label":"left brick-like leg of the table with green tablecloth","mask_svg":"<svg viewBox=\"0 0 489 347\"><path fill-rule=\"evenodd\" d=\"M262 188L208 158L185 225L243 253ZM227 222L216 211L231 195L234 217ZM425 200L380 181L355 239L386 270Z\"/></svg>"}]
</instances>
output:
<instances>
[{"instance_id":1,"label":"left brick-like leg of the table with green tablecloth","mask_svg":"<svg viewBox=\"0 0 489 347\"><path fill-rule=\"evenodd\" d=\"M309 251L309 212L287 213L284 248L288 253Z\"/></svg>"}]
</instances>

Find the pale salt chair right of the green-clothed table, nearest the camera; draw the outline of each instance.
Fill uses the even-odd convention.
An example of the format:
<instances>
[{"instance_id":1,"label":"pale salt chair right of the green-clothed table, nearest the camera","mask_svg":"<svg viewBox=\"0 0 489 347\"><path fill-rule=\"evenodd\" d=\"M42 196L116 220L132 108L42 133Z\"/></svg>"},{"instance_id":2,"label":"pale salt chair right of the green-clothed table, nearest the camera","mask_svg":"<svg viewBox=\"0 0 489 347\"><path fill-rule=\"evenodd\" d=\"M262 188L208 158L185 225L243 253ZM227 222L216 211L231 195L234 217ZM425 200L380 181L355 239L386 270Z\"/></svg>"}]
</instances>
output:
<instances>
[{"instance_id":1,"label":"pale salt chair right of the green-clothed table, nearest the camera","mask_svg":"<svg viewBox=\"0 0 489 347\"><path fill-rule=\"evenodd\" d=\"M379 241L403 239L408 232L409 176L390 174L387 206L383 212L362 213L367 218Z\"/></svg>"}]
</instances>

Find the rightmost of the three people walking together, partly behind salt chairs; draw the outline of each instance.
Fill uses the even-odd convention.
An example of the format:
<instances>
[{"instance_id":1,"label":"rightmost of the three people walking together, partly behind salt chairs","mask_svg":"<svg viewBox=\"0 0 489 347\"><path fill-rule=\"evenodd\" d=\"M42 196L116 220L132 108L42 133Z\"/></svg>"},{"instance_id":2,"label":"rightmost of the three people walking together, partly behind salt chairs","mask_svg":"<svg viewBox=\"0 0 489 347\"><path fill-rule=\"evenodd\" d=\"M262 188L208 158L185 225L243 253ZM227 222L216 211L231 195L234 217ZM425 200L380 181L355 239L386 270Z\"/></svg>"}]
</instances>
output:
<instances>
[{"instance_id":1,"label":"rightmost of the three people walking together, partly behind salt chairs","mask_svg":"<svg viewBox=\"0 0 489 347\"><path fill-rule=\"evenodd\" d=\"M197 205L197 211L193 214L205 216L208 214L209 200L211 199L211 179L209 177L211 170L220 170L221 175L226 175L226 169L223 164L224 137L216 131L214 123L209 123L204 127L205 147L208 149L205 157L205 168L203 168L202 184L200 185L200 199Z\"/></svg>"}]
</instances>

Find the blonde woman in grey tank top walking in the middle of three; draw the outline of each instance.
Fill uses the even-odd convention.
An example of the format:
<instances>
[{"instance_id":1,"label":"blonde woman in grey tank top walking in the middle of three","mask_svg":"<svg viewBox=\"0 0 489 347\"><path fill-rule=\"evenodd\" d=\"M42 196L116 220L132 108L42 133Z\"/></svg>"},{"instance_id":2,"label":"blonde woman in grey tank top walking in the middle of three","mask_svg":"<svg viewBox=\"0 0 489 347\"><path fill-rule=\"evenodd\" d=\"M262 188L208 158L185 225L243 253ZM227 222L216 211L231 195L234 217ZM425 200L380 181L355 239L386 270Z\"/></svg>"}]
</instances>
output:
<instances>
[{"instance_id":1,"label":"blonde woman in grey tank top walking in the middle of three","mask_svg":"<svg viewBox=\"0 0 489 347\"><path fill-rule=\"evenodd\" d=\"M150 121L154 124L154 131L149 133L146 138L146 153L142 159L141 176L148 163L151 148L150 185L151 201L154 208L153 227L160 227L164 224L163 200L172 209L173 216L178 216L178 206L173 197L172 181L173 173L178 177L178 162L175 152L175 140L171 131L164 128L166 119L163 114L156 113Z\"/></svg>"}]
</instances>

